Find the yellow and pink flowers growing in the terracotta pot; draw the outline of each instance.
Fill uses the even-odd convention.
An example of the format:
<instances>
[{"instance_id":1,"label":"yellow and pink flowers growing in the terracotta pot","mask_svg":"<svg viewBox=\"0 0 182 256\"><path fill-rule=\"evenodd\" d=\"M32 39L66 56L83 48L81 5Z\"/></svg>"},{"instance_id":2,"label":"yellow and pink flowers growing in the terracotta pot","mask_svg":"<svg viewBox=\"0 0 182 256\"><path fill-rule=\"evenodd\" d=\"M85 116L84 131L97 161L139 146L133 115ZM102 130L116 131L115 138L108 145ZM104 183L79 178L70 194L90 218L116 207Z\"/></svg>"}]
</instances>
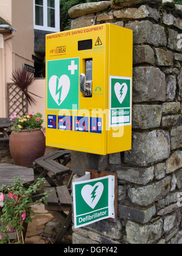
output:
<instances>
[{"instance_id":1,"label":"yellow and pink flowers growing in the terracotta pot","mask_svg":"<svg viewBox=\"0 0 182 256\"><path fill-rule=\"evenodd\" d=\"M10 121L14 121L14 123L10 126L11 130L19 132L19 130L31 130L31 129L42 129L42 123L44 120L42 119L41 113L36 114L25 114L21 118L17 118L18 110L16 109L13 115L10 116Z\"/></svg>"}]
</instances>

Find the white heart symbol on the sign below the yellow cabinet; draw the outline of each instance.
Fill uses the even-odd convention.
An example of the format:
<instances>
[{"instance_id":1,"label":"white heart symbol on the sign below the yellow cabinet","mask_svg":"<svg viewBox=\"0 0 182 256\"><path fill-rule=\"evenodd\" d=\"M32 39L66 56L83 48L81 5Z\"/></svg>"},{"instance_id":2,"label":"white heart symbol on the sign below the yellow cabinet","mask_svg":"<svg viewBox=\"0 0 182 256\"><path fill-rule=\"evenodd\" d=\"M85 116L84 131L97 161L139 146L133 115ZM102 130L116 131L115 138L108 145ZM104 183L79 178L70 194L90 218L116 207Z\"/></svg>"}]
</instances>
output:
<instances>
[{"instance_id":1,"label":"white heart symbol on the sign below the yellow cabinet","mask_svg":"<svg viewBox=\"0 0 182 256\"><path fill-rule=\"evenodd\" d=\"M101 182L96 183L93 187L91 185L85 185L81 190L81 195L84 201L92 209L98 204L104 190L104 185Z\"/></svg>"}]
</instances>

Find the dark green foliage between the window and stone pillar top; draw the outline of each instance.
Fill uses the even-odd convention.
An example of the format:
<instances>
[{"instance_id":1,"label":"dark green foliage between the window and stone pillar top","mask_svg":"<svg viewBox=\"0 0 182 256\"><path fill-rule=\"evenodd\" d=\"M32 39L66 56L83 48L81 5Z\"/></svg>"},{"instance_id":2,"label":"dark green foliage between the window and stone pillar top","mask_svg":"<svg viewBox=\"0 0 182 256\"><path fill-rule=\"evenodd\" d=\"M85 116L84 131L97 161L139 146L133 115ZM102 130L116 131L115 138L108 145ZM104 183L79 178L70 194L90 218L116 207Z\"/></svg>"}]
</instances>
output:
<instances>
[{"instance_id":1,"label":"dark green foliage between the window and stone pillar top","mask_svg":"<svg viewBox=\"0 0 182 256\"><path fill-rule=\"evenodd\" d=\"M69 30L72 19L70 18L68 11L71 7L77 4L84 4L86 2L99 2L104 0L60 0L60 30Z\"/></svg>"}]
</instances>

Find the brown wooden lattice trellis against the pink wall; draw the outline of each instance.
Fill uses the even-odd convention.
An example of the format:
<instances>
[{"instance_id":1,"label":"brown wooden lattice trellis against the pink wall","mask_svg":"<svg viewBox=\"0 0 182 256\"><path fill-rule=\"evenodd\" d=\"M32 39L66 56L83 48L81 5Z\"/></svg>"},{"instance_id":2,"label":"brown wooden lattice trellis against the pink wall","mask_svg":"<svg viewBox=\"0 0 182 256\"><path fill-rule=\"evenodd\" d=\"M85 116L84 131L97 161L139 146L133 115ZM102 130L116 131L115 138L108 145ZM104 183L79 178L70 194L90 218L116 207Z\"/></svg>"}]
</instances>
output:
<instances>
[{"instance_id":1,"label":"brown wooden lattice trellis against the pink wall","mask_svg":"<svg viewBox=\"0 0 182 256\"><path fill-rule=\"evenodd\" d=\"M22 91L14 83L7 83L7 115L8 118L18 109L18 116L22 116ZM24 99L24 109L28 112L27 99Z\"/></svg>"}]
</instances>

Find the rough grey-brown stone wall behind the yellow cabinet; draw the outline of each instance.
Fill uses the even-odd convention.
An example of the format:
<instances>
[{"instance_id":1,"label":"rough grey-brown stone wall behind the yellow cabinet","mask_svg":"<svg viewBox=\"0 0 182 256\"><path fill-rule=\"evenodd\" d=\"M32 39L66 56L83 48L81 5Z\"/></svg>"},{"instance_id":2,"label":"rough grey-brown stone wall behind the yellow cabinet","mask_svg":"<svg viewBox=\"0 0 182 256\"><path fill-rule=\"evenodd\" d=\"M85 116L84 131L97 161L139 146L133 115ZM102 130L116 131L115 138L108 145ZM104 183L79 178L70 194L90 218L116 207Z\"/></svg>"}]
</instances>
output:
<instances>
[{"instance_id":1,"label":"rough grey-brown stone wall behind the yellow cabinet","mask_svg":"<svg viewBox=\"0 0 182 256\"><path fill-rule=\"evenodd\" d=\"M182 243L182 5L112 0L69 10L72 29L113 23L133 30L132 150L72 152L73 171L118 174L118 219L73 230L73 243Z\"/></svg>"}]
</instances>

